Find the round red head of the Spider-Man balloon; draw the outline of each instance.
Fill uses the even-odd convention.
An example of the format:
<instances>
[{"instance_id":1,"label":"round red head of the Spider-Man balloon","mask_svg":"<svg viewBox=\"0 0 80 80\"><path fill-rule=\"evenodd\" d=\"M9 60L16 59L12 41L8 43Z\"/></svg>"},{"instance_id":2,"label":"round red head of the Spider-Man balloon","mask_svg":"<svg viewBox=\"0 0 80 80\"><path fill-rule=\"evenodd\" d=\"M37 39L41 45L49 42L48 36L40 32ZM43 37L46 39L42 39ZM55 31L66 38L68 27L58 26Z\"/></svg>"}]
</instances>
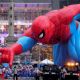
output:
<instances>
[{"instance_id":1,"label":"round red head of the Spider-Man balloon","mask_svg":"<svg viewBox=\"0 0 80 80\"><path fill-rule=\"evenodd\" d=\"M55 25L46 16L37 17L32 24L34 38L44 44L54 43Z\"/></svg>"}]
</instances>

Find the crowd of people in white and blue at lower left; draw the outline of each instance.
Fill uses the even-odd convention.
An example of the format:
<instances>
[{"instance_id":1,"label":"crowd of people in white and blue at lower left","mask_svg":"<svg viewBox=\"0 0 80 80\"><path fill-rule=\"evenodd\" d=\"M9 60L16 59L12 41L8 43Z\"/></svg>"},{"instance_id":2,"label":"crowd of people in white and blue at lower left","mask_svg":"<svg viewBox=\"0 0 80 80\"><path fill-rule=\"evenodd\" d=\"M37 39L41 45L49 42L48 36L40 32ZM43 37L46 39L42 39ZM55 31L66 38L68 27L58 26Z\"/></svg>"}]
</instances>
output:
<instances>
[{"instance_id":1,"label":"crowd of people in white and blue at lower left","mask_svg":"<svg viewBox=\"0 0 80 80\"><path fill-rule=\"evenodd\" d=\"M14 80L18 80L18 77L34 77L38 78L38 74L40 74L41 71L38 67L34 67L33 65L21 65L21 66L13 66L13 68L9 67L0 67L0 77L4 77L5 79L8 79L9 77L12 77ZM37 80L37 79L36 79Z\"/></svg>"}]
</instances>

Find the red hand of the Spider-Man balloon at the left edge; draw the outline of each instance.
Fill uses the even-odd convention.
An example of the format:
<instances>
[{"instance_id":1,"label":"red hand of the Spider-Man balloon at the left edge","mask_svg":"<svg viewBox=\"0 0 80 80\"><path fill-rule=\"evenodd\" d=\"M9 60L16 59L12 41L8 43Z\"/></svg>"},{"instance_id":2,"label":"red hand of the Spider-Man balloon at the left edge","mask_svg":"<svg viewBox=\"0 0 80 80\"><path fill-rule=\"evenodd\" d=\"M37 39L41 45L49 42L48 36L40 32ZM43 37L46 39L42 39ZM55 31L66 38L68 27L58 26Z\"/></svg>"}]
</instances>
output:
<instances>
[{"instance_id":1,"label":"red hand of the Spider-Man balloon at the left edge","mask_svg":"<svg viewBox=\"0 0 80 80\"><path fill-rule=\"evenodd\" d=\"M14 52L8 48L0 48L0 64L9 63L10 67L12 66L14 58Z\"/></svg>"}]
</instances>

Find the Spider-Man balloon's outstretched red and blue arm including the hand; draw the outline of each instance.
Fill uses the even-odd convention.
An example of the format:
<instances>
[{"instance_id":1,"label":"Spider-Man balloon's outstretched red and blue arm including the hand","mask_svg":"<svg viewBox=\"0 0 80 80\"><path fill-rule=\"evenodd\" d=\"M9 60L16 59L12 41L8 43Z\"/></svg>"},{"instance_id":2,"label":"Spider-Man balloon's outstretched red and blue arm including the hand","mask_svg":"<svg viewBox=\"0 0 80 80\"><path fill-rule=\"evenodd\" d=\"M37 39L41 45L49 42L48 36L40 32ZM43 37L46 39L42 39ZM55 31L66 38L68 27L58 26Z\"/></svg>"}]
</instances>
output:
<instances>
[{"instance_id":1,"label":"Spider-Man balloon's outstretched red and blue arm including the hand","mask_svg":"<svg viewBox=\"0 0 80 80\"><path fill-rule=\"evenodd\" d=\"M31 30L28 32L29 34L24 33L10 48L0 48L0 64L9 63L9 65L12 66L14 55L19 55L31 49L36 44L36 40L34 40L30 34Z\"/></svg>"}]
</instances>

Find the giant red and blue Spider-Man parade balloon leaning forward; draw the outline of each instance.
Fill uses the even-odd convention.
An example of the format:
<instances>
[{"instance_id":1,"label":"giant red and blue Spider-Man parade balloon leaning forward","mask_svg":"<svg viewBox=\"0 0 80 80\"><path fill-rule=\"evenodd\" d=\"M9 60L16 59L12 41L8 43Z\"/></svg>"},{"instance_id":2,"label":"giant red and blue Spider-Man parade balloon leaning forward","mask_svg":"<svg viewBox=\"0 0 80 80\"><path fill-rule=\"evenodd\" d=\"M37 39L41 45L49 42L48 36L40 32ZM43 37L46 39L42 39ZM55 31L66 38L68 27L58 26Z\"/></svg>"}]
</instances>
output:
<instances>
[{"instance_id":1,"label":"giant red and blue Spider-Man parade balloon leaning forward","mask_svg":"<svg viewBox=\"0 0 80 80\"><path fill-rule=\"evenodd\" d=\"M0 48L1 63L12 66L14 55L32 49L41 42L53 45L54 64L64 65L72 59L80 62L80 4L53 10L37 17L32 27L10 48Z\"/></svg>"}]
</instances>

